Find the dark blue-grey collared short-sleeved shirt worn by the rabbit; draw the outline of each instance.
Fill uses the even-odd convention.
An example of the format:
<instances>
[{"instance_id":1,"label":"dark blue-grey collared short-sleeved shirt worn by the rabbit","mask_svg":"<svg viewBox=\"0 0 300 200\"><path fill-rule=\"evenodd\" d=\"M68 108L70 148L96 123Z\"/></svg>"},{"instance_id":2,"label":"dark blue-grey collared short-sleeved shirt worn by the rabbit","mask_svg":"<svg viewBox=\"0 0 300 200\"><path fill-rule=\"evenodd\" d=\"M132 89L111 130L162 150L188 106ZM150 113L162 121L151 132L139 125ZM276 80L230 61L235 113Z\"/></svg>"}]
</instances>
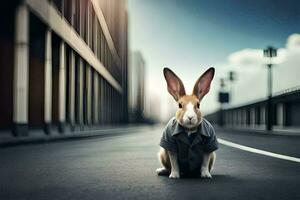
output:
<instances>
[{"instance_id":1,"label":"dark blue-grey collared short-sleeved shirt worn by the rabbit","mask_svg":"<svg viewBox=\"0 0 300 200\"><path fill-rule=\"evenodd\" d=\"M218 149L214 128L203 119L195 133L188 136L184 127L172 118L164 129L160 146L177 153L180 172L200 169L203 154Z\"/></svg>"}]
</instances>

